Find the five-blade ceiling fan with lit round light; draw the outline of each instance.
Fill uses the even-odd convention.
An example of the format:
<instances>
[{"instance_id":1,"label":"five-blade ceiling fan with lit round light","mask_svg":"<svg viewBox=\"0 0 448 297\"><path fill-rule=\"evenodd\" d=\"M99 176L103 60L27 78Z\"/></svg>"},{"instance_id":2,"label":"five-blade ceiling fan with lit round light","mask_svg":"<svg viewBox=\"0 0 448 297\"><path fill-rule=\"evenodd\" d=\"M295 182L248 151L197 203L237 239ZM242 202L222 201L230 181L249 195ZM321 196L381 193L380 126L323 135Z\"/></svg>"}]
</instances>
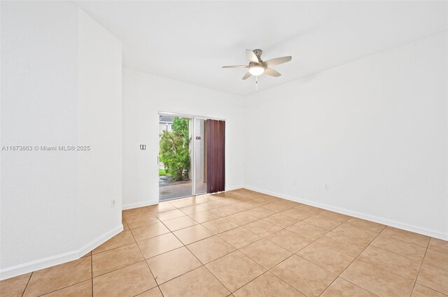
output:
<instances>
[{"instance_id":1,"label":"five-blade ceiling fan with lit round light","mask_svg":"<svg viewBox=\"0 0 448 297\"><path fill-rule=\"evenodd\" d=\"M239 66L223 66L223 68L248 68L248 72L243 76L243 80L251 77L251 75L255 76L255 87L258 86L258 75L267 74L271 76L280 76L281 74L278 71L275 71L270 66L283 64L290 61L293 57L280 57L275 59L270 59L267 61L263 61L261 59L262 50L246 50L246 57L249 60L248 65L239 65Z\"/></svg>"}]
</instances>

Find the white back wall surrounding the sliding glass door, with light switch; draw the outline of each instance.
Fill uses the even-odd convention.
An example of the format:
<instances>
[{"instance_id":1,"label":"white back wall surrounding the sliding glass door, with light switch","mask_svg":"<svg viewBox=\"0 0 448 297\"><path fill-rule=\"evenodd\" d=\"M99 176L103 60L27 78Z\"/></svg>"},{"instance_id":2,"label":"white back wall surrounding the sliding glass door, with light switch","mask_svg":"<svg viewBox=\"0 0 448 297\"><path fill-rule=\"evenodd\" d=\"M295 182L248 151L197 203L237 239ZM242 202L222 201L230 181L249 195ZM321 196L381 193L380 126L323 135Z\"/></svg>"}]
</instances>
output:
<instances>
[{"instance_id":1,"label":"white back wall surrounding the sliding glass door, with light switch","mask_svg":"<svg viewBox=\"0 0 448 297\"><path fill-rule=\"evenodd\" d=\"M123 70L123 208L158 203L158 112L225 119L226 189L244 184L241 96ZM139 145L146 144L146 150Z\"/></svg>"}]
</instances>

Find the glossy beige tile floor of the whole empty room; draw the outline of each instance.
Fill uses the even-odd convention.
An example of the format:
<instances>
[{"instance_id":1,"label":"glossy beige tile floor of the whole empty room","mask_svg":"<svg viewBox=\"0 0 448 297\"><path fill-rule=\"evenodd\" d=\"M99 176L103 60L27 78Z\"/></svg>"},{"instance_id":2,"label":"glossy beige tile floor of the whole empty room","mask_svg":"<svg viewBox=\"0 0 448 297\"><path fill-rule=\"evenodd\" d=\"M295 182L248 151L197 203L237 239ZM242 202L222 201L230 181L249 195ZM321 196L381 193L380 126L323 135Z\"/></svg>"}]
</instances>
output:
<instances>
[{"instance_id":1,"label":"glossy beige tile floor of the whole empty room","mask_svg":"<svg viewBox=\"0 0 448 297\"><path fill-rule=\"evenodd\" d=\"M247 189L123 211L83 258L1 297L448 296L448 242Z\"/></svg>"}]
</instances>

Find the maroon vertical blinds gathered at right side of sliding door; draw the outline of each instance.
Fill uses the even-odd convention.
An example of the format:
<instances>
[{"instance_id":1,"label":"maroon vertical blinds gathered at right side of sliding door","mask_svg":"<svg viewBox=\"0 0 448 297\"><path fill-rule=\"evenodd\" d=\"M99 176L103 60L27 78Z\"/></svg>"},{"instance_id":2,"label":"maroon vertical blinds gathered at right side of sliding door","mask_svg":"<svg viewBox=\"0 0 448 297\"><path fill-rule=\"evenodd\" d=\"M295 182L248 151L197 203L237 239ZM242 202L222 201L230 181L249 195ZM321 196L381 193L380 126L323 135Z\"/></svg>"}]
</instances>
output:
<instances>
[{"instance_id":1,"label":"maroon vertical blinds gathered at right side of sliding door","mask_svg":"<svg viewBox=\"0 0 448 297\"><path fill-rule=\"evenodd\" d=\"M225 122L207 119L207 193L225 189Z\"/></svg>"}]
</instances>

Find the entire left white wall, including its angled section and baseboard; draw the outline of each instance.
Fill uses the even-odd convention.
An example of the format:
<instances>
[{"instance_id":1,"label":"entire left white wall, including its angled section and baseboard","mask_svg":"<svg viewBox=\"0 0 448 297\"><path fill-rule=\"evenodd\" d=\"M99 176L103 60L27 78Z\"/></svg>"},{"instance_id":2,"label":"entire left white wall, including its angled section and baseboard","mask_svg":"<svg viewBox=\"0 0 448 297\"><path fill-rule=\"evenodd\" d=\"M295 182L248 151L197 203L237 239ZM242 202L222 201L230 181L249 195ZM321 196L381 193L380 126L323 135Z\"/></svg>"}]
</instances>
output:
<instances>
[{"instance_id":1,"label":"entire left white wall, including its angled section and baseboard","mask_svg":"<svg viewBox=\"0 0 448 297\"><path fill-rule=\"evenodd\" d=\"M1 146L92 151L1 152L0 278L77 259L123 229L110 207L121 194L120 55L71 3L1 3Z\"/></svg>"}]
</instances>

